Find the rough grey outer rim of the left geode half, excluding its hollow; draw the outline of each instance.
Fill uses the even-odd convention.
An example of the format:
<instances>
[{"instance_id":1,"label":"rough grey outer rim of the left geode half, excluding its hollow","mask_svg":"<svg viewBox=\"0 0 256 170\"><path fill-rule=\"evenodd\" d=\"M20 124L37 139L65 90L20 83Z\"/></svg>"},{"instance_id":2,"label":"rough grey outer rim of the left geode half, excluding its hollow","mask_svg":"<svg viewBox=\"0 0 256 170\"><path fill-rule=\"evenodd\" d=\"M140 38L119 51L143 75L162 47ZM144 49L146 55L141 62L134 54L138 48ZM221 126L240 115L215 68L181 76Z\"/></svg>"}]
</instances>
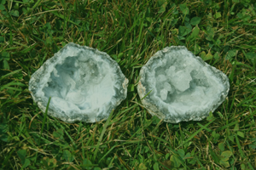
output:
<instances>
[{"instance_id":1,"label":"rough grey outer rim of the left geode half, excluding its hollow","mask_svg":"<svg viewBox=\"0 0 256 170\"><path fill-rule=\"evenodd\" d=\"M74 48L80 48L84 50L90 50L96 55L101 55L102 58L107 59L108 62L111 64L111 67L115 70L116 75L115 78L117 78L118 82L116 86L119 87L119 99L116 100L116 102L110 106L108 109L107 114L100 114L95 118L94 121L92 121L88 116L86 115L81 115L79 116L67 116L63 111L59 110L58 108L52 107L49 105L48 109L48 115L49 116L54 116L56 118L61 119L63 122L68 122L68 123L73 123L73 122L99 122L102 121L103 119L108 119L108 116L113 109L115 109L116 106L118 106L122 100L126 98L127 95L127 86L128 86L128 79L125 78L124 74L120 70L120 67L116 61L111 59L111 57L104 52L101 52L97 50L96 48L90 48L87 46L80 46L79 44L75 44L73 42L68 43L64 48L61 48L60 51L58 51L52 58L48 59L45 61L45 63L38 69L38 71L34 72L32 74L32 77L29 81L29 91L31 92L32 99L38 104L38 107L41 109L41 111L45 112L46 111L46 106L48 103L49 98L45 98L44 95L41 93L38 93L38 88L43 89L45 87L45 82L43 82L43 79L49 79L50 74L55 68L56 62L58 62L61 58L61 53L66 50L68 47L74 47ZM60 62L59 62L60 64ZM42 91L42 90L41 90ZM61 114L60 114L61 112ZM75 113L72 113L75 115ZM64 115L64 116L63 116Z\"/></svg>"}]
</instances>

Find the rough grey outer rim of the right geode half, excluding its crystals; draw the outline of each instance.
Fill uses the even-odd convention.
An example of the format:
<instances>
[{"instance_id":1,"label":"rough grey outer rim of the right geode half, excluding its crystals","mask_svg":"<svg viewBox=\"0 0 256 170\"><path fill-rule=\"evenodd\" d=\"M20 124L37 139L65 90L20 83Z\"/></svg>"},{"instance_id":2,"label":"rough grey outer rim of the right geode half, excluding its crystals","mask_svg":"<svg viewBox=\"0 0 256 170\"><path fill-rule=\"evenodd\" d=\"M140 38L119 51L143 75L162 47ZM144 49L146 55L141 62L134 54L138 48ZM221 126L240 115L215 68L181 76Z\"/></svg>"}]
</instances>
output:
<instances>
[{"instance_id":1,"label":"rough grey outer rim of the right geode half, excluding its crystals","mask_svg":"<svg viewBox=\"0 0 256 170\"><path fill-rule=\"evenodd\" d=\"M163 119L165 122L171 122L171 123L178 123L178 122L189 122L189 121L201 121L202 119L209 116L210 111L215 111L219 105L221 105L226 96L228 95L229 89L230 89L230 83L229 78L222 72L216 69L215 67L208 65L206 62L204 62L200 57L195 56L193 57L198 60L198 62L201 63L201 65L209 68L213 74L218 75L218 79L224 84L225 87L227 87L219 96L218 103L216 105L213 105L212 108L209 108L208 111L202 113L202 114L185 114L183 116L170 116L168 115L168 112L162 112L160 111L160 108L158 105L156 105L157 101L154 101L150 98L150 90L148 89L148 86L145 84L147 77L146 77L146 71L148 71L153 63L156 61L156 59L163 59L165 54L172 53L174 50L186 50L187 53L192 54L187 48L184 46L171 46L163 48L162 50L158 51L156 54L154 54L144 65L140 71L140 81L137 85L137 91L139 94L140 99L142 99L143 106L147 109L147 111L152 116L158 116L160 119ZM146 97L145 97L146 96Z\"/></svg>"}]
</instances>

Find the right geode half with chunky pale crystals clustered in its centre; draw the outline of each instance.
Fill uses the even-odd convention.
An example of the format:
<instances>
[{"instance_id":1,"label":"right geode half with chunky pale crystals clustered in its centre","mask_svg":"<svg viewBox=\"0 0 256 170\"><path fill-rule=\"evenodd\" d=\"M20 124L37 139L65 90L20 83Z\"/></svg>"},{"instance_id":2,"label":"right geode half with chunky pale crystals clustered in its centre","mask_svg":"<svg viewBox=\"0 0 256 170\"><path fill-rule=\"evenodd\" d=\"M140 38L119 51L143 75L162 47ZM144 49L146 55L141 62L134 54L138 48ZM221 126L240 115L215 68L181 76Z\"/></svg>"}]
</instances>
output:
<instances>
[{"instance_id":1,"label":"right geode half with chunky pale crystals clustered in its centre","mask_svg":"<svg viewBox=\"0 0 256 170\"><path fill-rule=\"evenodd\" d=\"M224 102L229 78L183 46L158 51L140 71L137 91L152 116L200 121Z\"/></svg>"}]
</instances>

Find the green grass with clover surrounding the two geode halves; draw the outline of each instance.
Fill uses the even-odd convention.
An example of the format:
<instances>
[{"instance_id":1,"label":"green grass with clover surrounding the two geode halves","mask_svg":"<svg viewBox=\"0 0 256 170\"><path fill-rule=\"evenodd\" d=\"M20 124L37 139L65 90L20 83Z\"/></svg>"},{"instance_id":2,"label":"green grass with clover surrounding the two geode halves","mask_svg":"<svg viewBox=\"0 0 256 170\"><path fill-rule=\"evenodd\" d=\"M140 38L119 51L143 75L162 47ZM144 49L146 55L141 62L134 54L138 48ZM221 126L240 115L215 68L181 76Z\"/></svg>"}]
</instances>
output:
<instances>
[{"instance_id":1,"label":"green grass with clover surrounding the two geode halves","mask_svg":"<svg viewBox=\"0 0 256 170\"><path fill-rule=\"evenodd\" d=\"M0 169L255 169L253 2L1 0ZM61 122L32 101L32 73L68 42L108 53L129 79L107 122ZM163 122L138 98L140 68L172 45L230 78L201 122Z\"/></svg>"}]
</instances>

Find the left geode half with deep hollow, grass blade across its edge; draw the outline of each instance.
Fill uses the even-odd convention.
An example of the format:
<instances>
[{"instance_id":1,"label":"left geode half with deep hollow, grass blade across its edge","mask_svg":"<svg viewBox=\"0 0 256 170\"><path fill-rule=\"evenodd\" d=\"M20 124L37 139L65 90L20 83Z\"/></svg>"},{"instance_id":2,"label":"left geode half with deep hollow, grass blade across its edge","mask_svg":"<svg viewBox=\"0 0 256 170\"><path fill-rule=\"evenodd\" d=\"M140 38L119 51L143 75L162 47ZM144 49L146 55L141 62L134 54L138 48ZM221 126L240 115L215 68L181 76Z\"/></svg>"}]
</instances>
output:
<instances>
[{"instance_id":1,"label":"left geode half with deep hollow, grass blade across its edge","mask_svg":"<svg viewBox=\"0 0 256 170\"><path fill-rule=\"evenodd\" d=\"M42 110L64 122L99 122L126 98L128 79L116 61L73 42L32 74L29 90Z\"/></svg>"}]
</instances>

